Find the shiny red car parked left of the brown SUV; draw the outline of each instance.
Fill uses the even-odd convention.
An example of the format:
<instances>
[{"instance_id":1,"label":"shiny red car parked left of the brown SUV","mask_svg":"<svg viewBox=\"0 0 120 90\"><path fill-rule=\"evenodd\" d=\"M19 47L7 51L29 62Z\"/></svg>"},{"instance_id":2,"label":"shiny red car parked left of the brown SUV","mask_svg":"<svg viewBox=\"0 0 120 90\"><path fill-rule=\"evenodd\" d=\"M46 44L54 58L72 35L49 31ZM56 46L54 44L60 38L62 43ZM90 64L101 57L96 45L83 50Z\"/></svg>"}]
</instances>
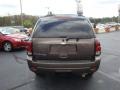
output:
<instances>
[{"instance_id":1,"label":"shiny red car parked left of the brown SUV","mask_svg":"<svg viewBox=\"0 0 120 90\"><path fill-rule=\"evenodd\" d=\"M0 28L0 49L10 52L15 48L26 47L26 40L28 36L21 34L19 29L11 27Z\"/></svg>"}]
</instances>

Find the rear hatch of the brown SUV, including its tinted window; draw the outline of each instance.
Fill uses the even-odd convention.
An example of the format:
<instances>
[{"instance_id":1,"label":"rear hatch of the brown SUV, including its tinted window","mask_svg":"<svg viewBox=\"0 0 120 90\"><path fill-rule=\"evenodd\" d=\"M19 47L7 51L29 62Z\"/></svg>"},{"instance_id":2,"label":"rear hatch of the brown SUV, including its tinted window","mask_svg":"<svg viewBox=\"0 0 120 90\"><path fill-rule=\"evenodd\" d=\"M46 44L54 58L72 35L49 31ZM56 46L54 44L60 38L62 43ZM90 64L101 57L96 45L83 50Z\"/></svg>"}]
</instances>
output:
<instances>
[{"instance_id":1,"label":"rear hatch of the brown SUV, including its tinted window","mask_svg":"<svg viewBox=\"0 0 120 90\"><path fill-rule=\"evenodd\" d=\"M33 37L33 60L94 60L95 36L86 19L38 22Z\"/></svg>"}]
</instances>

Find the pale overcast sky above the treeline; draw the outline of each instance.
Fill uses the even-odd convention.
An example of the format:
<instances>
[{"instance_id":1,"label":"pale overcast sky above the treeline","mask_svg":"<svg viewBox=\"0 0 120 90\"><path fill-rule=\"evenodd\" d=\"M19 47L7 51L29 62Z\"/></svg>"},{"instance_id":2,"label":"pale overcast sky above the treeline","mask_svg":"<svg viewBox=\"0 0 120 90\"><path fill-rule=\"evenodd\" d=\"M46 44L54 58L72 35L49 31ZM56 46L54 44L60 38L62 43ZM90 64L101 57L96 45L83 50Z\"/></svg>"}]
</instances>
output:
<instances>
[{"instance_id":1,"label":"pale overcast sky above the treeline","mask_svg":"<svg viewBox=\"0 0 120 90\"><path fill-rule=\"evenodd\" d=\"M46 15L48 8L55 14L76 14L75 0L22 0L23 13ZM87 17L118 16L120 0L82 0ZM20 0L0 0L0 16L20 14Z\"/></svg>"}]
</instances>

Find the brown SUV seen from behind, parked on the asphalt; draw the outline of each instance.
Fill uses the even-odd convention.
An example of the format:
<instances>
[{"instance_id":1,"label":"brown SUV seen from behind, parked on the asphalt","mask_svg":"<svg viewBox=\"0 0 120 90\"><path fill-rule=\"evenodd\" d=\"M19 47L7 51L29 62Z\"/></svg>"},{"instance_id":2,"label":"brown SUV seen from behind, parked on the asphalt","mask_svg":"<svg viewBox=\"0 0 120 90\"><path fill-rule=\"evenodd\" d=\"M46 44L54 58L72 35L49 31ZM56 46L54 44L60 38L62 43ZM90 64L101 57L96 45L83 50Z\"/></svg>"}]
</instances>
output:
<instances>
[{"instance_id":1,"label":"brown SUV seen from behind, parked on the asphalt","mask_svg":"<svg viewBox=\"0 0 120 90\"><path fill-rule=\"evenodd\" d=\"M40 18L27 47L31 71L77 72L91 76L100 65L101 46L84 16Z\"/></svg>"}]
</instances>

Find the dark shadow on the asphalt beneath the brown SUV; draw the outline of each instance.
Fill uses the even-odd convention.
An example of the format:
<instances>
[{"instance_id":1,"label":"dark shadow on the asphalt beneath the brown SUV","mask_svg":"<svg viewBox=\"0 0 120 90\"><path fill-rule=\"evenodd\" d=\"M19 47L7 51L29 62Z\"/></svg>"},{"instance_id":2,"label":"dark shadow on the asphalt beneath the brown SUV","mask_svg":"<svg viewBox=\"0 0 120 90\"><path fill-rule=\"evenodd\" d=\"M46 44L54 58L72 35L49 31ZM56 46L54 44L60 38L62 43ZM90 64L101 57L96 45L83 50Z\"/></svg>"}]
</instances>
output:
<instances>
[{"instance_id":1,"label":"dark shadow on the asphalt beneath the brown SUV","mask_svg":"<svg viewBox=\"0 0 120 90\"><path fill-rule=\"evenodd\" d=\"M82 78L80 75L62 73L47 77L35 78L34 90L90 90L92 78Z\"/></svg>"}]
</instances>

